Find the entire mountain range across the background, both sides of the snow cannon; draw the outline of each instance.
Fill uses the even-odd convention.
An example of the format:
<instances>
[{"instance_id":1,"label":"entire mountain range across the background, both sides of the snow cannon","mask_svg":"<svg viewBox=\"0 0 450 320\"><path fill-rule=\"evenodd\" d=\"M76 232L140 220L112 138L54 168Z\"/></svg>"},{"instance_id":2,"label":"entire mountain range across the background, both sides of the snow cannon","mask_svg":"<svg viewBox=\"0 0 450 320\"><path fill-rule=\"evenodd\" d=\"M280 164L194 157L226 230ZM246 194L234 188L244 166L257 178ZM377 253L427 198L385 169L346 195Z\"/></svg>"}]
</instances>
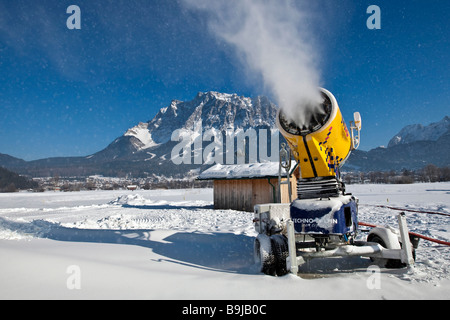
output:
<instances>
[{"instance_id":1,"label":"entire mountain range across the background, both sides of the snow cannon","mask_svg":"<svg viewBox=\"0 0 450 320\"><path fill-rule=\"evenodd\" d=\"M94 154L33 161L0 154L0 166L31 176L121 176L131 173L134 176L183 177L209 166L175 165L171 161L173 149L179 143L173 139L175 131L204 134L214 129L214 132L224 134L230 129L235 132L249 128L274 129L277 110L278 107L263 96L248 98L216 91L199 92L190 101L172 100L151 120L139 122ZM200 124L201 132L196 133ZM280 139L283 140L281 135ZM201 141L200 147L204 149L210 143ZM448 166L450 159L446 150L449 148L450 118L446 116L428 126L404 127L391 139L387 148L353 151L343 171L419 169L429 163Z\"/></svg>"}]
</instances>

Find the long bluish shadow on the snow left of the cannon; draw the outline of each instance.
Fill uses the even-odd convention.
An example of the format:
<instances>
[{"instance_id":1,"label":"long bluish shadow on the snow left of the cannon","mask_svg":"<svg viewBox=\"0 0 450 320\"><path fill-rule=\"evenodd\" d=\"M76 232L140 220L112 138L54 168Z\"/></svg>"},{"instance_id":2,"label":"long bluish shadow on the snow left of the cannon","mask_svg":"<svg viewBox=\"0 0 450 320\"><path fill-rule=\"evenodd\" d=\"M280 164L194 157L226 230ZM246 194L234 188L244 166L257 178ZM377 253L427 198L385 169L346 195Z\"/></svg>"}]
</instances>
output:
<instances>
[{"instance_id":1,"label":"long bluish shadow on the snow left of the cannon","mask_svg":"<svg viewBox=\"0 0 450 320\"><path fill-rule=\"evenodd\" d=\"M0 217L0 227L57 241L135 245L152 249L166 261L221 272L255 274L253 237L232 233L175 232L151 239L148 229L78 229L45 220L10 221Z\"/></svg>"}]
</instances>

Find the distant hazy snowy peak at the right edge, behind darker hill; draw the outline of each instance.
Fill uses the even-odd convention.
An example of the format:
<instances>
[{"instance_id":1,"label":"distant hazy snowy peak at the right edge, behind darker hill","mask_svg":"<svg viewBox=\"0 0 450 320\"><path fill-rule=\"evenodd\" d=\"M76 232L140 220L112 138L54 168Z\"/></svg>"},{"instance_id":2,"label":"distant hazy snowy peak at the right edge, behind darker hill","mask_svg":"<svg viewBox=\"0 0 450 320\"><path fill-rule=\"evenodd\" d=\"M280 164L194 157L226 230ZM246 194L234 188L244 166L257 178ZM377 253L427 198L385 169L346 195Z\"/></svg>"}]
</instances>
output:
<instances>
[{"instance_id":1,"label":"distant hazy snowy peak at the right edge, behind darker hill","mask_svg":"<svg viewBox=\"0 0 450 320\"><path fill-rule=\"evenodd\" d=\"M388 148L416 141L437 141L449 130L450 118L448 116L444 117L441 121L431 123L428 126L412 124L404 127L398 134L396 134L389 141Z\"/></svg>"}]
</instances>

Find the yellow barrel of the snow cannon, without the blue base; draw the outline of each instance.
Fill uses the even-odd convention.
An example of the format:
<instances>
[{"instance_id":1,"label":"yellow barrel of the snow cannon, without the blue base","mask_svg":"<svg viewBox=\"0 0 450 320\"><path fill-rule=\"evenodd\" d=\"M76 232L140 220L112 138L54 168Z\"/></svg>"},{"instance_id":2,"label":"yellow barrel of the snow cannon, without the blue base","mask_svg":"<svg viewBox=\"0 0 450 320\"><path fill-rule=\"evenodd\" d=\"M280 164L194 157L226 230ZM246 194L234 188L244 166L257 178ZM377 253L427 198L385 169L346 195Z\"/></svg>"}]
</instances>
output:
<instances>
[{"instance_id":1,"label":"yellow barrel of the snow cannon, without the blue base","mask_svg":"<svg viewBox=\"0 0 450 320\"><path fill-rule=\"evenodd\" d=\"M322 88L320 93L323 102L316 108L307 108L315 111L309 114L306 125L288 119L282 108L277 114L278 129L300 165L302 179L336 176L338 168L359 144L359 113L355 113L356 126L352 125L352 129L358 130L358 137L353 138L353 131L349 132L336 98Z\"/></svg>"}]
</instances>

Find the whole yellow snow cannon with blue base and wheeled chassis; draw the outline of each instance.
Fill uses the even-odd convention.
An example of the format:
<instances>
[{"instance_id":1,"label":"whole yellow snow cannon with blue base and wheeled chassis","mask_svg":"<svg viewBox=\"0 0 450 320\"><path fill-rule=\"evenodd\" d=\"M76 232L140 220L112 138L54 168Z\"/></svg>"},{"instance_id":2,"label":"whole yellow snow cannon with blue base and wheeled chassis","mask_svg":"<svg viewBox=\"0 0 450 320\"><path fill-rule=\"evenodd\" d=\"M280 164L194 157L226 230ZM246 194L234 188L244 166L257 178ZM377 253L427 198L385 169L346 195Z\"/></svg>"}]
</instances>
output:
<instances>
[{"instance_id":1,"label":"whole yellow snow cannon with blue base and wheeled chassis","mask_svg":"<svg viewBox=\"0 0 450 320\"><path fill-rule=\"evenodd\" d=\"M298 198L291 203L255 206L255 261L270 275L296 274L306 261L343 256L370 257L384 266L414 263L405 215L399 215L399 230L376 227L367 241L358 234L358 199L345 192L340 168L360 142L361 116L354 113L350 132L336 98L320 89L322 102L305 124L289 119L283 110L277 125L290 152L280 150L279 183L289 182L291 155L299 167ZM301 107L301 106L300 106ZM354 131L356 130L356 134ZM282 176L282 168L286 177ZM291 192L289 192L291 194ZM279 197L280 198L280 197Z\"/></svg>"}]
</instances>

